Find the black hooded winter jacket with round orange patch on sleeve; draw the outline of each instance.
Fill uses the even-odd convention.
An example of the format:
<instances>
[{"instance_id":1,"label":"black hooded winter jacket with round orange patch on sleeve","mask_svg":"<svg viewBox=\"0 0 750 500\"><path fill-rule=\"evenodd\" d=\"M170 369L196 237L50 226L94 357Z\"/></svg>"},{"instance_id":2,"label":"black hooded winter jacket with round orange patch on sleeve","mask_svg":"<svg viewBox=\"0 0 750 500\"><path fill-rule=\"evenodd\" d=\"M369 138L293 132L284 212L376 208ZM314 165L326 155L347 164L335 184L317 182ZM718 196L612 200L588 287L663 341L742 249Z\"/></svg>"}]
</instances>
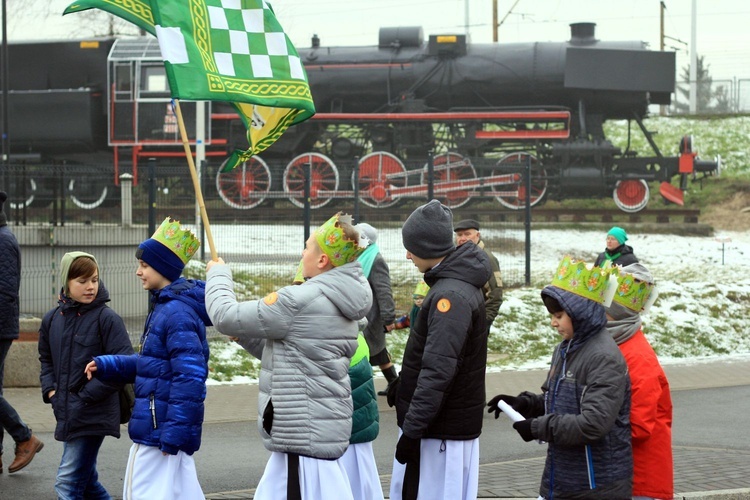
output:
<instances>
[{"instance_id":1,"label":"black hooded winter jacket with round orange patch on sleeve","mask_svg":"<svg viewBox=\"0 0 750 500\"><path fill-rule=\"evenodd\" d=\"M430 291L411 325L396 399L410 438L469 440L482 432L487 318L482 286L492 268L466 243L427 271Z\"/></svg>"}]
</instances>

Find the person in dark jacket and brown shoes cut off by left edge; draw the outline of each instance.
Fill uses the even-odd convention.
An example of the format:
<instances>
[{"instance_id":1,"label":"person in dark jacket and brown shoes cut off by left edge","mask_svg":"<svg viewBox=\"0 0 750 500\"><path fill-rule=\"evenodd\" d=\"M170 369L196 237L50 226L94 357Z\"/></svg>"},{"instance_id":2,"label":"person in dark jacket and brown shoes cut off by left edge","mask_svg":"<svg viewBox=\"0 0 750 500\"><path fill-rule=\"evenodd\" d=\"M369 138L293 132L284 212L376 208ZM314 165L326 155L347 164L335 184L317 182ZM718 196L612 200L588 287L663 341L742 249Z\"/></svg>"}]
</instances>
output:
<instances>
[{"instance_id":1,"label":"person in dark jacket and brown shoes cut off by left edge","mask_svg":"<svg viewBox=\"0 0 750 500\"><path fill-rule=\"evenodd\" d=\"M8 228L3 204L8 194L0 191L0 472L3 472L3 430L16 442L16 456L8 467L11 474L23 469L44 447L23 423L18 412L3 397L3 371L8 349L18 338L18 291L21 288L21 249Z\"/></svg>"}]
</instances>

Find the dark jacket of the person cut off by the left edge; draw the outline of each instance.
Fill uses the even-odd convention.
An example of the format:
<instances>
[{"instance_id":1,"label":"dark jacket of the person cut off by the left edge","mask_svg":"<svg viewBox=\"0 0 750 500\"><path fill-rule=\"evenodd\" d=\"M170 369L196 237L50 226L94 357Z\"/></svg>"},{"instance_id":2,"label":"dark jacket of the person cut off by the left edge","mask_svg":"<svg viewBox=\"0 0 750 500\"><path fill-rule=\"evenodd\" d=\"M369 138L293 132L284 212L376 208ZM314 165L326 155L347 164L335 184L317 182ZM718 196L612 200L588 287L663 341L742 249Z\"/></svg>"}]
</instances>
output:
<instances>
[{"instance_id":1,"label":"dark jacket of the person cut off by the left edge","mask_svg":"<svg viewBox=\"0 0 750 500\"><path fill-rule=\"evenodd\" d=\"M21 250L0 212L0 340L18 338L18 290L21 286Z\"/></svg>"}]
</instances>

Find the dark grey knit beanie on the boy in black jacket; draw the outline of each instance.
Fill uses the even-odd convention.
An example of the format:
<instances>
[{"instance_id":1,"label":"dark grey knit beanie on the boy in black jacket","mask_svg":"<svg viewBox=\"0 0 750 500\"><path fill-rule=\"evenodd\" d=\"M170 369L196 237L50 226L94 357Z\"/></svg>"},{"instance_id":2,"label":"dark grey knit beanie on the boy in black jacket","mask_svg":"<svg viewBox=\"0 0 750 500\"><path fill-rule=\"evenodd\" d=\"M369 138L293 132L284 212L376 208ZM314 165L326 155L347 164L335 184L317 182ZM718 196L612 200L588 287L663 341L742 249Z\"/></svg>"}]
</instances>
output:
<instances>
[{"instance_id":1,"label":"dark grey knit beanie on the boy in black jacket","mask_svg":"<svg viewBox=\"0 0 750 500\"><path fill-rule=\"evenodd\" d=\"M404 248L422 259L448 255L455 248L453 212L437 200L417 207L401 228Z\"/></svg>"}]
</instances>

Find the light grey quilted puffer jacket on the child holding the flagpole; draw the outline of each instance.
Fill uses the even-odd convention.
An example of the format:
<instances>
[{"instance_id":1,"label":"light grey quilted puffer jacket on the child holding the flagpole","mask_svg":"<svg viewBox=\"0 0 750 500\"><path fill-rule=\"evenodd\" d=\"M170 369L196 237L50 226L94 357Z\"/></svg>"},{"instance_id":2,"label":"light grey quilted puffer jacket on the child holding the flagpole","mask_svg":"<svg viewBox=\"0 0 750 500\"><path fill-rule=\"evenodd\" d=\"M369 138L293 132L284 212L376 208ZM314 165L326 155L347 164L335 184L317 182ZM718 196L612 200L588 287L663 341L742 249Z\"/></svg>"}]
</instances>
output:
<instances>
[{"instance_id":1,"label":"light grey quilted puffer jacket on the child holding the flagpole","mask_svg":"<svg viewBox=\"0 0 750 500\"><path fill-rule=\"evenodd\" d=\"M238 303L226 265L208 272L206 308L219 332L261 354L258 428L270 451L337 459L349 445L349 361L372 306L359 262L261 300ZM264 342L265 339L265 342Z\"/></svg>"}]
</instances>

